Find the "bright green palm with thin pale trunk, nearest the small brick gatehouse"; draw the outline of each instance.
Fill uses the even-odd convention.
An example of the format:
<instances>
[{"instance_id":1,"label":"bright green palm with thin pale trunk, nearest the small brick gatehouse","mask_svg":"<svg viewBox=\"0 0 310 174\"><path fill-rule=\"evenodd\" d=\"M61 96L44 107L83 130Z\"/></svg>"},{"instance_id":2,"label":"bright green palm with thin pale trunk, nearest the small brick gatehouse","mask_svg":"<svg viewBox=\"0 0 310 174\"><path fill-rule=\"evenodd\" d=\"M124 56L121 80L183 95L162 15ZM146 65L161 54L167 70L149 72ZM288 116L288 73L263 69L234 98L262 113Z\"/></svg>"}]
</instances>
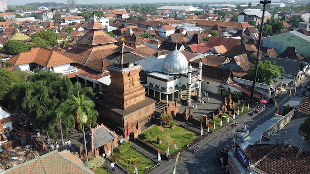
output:
<instances>
[{"instance_id":1,"label":"bright green palm with thin pale trunk, nearest the small brick gatehouse","mask_svg":"<svg viewBox=\"0 0 310 174\"><path fill-rule=\"evenodd\" d=\"M86 161L88 161L84 124L87 123L90 118L98 116L98 112L94 110L95 103L85 95L78 95L78 97L72 95L71 99L64 102L63 107L67 113L75 115L75 120L79 128L83 130L85 155Z\"/></svg>"}]
</instances>

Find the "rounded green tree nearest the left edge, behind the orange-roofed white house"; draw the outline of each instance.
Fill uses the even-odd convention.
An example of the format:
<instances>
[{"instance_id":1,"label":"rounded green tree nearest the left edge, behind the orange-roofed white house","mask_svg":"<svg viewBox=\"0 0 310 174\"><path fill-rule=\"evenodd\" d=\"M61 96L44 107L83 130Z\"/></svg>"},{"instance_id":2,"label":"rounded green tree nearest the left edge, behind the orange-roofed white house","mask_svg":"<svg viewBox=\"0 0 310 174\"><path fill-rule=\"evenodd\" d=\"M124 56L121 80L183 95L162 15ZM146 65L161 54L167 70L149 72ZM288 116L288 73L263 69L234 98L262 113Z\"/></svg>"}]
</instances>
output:
<instances>
[{"instance_id":1,"label":"rounded green tree nearest the left edge, behind the orange-roofed white house","mask_svg":"<svg viewBox=\"0 0 310 174\"><path fill-rule=\"evenodd\" d=\"M3 50L12 55L16 55L21 52L29 50L29 46L18 40L10 40L3 44Z\"/></svg>"}]
</instances>

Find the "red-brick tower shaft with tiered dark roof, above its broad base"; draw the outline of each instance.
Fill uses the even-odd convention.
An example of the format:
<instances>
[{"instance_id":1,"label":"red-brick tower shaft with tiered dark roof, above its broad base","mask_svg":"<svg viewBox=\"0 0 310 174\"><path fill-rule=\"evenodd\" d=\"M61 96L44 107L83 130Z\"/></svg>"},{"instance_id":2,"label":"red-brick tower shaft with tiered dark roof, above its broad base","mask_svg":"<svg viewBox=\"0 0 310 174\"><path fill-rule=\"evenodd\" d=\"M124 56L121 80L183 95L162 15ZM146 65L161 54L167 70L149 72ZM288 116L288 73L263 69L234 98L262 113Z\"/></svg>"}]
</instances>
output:
<instances>
[{"instance_id":1,"label":"red-brick tower shaft with tiered dark roof, above its broad base","mask_svg":"<svg viewBox=\"0 0 310 174\"><path fill-rule=\"evenodd\" d=\"M105 57L112 65L107 66L111 74L111 84L106 89L106 100L126 110L145 101L145 89L140 83L141 66L135 61L146 59L132 53L134 49L122 44L115 53Z\"/></svg>"}]
</instances>

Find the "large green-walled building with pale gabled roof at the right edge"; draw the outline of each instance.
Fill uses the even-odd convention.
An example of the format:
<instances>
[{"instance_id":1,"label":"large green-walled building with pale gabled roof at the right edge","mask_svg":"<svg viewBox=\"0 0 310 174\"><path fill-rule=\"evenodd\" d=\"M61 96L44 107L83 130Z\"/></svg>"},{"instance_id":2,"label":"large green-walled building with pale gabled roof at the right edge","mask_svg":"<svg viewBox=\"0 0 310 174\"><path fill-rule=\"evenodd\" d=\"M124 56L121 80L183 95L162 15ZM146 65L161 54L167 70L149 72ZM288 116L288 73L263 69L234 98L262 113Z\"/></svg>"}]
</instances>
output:
<instances>
[{"instance_id":1,"label":"large green-walled building with pale gabled roof at the right edge","mask_svg":"<svg viewBox=\"0 0 310 174\"><path fill-rule=\"evenodd\" d=\"M274 48L277 54L287 47L295 47L298 53L310 56L310 37L294 30L263 38L262 47Z\"/></svg>"}]
</instances>

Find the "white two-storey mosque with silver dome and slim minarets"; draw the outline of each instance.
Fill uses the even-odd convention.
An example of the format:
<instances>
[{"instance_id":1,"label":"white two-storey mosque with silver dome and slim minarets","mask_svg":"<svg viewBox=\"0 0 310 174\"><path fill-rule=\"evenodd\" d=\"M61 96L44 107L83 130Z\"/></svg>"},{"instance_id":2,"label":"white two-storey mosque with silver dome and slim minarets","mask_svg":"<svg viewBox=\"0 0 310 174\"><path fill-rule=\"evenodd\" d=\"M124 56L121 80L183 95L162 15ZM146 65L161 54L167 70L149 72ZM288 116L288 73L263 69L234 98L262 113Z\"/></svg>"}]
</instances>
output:
<instances>
[{"instance_id":1,"label":"white two-storey mosque with silver dome and slim minarets","mask_svg":"<svg viewBox=\"0 0 310 174\"><path fill-rule=\"evenodd\" d=\"M147 57L139 60L139 64L142 66L140 80L148 97L166 103L177 98L187 106L191 105L192 92L197 96L195 100L200 99L201 61L198 68L192 67L184 54L175 47L164 60Z\"/></svg>"}]
</instances>

